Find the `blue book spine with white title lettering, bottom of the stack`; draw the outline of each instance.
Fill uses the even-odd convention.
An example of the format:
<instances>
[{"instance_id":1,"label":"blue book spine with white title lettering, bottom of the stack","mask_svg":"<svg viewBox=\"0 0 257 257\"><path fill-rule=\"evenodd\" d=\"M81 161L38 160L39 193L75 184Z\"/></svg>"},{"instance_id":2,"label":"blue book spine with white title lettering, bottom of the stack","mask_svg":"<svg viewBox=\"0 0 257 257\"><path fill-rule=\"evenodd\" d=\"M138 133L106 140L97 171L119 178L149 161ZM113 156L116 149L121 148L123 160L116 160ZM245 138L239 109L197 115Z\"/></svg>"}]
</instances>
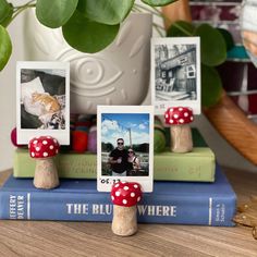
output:
<instances>
[{"instance_id":1,"label":"blue book spine with white title lettering, bottom of the stack","mask_svg":"<svg viewBox=\"0 0 257 257\"><path fill-rule=\"evenodd\" d=\"M109 194L1 192L0 219L111 221ZM232 227L235 198L145 194L138 222Z\"/></svg>"}]
</instances>

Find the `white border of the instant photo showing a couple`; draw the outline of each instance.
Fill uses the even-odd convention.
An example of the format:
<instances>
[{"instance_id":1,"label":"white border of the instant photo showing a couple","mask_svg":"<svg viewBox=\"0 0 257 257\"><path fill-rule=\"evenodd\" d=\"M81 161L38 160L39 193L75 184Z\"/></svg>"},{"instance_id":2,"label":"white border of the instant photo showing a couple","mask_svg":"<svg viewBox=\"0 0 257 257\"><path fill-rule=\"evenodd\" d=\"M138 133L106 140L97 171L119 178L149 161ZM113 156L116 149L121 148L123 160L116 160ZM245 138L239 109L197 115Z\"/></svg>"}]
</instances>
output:
<instances>
[{"instance_id":1,"label":"white border of the instant photo showing a couple","mask_svg":"<svg viewBox=\"0 0 257 257\"><path fill-rule=\"evenodd\" d=\"M101 117L102 113L147 113L149 114L149 174L148 176L107 176L101 167ZM102 182L103 181L103 182ZM118 181L137 182L143 192L154 189L154 106L98 106L97 107L97 189L110 192Z\"/></svg>"}]
</instances>

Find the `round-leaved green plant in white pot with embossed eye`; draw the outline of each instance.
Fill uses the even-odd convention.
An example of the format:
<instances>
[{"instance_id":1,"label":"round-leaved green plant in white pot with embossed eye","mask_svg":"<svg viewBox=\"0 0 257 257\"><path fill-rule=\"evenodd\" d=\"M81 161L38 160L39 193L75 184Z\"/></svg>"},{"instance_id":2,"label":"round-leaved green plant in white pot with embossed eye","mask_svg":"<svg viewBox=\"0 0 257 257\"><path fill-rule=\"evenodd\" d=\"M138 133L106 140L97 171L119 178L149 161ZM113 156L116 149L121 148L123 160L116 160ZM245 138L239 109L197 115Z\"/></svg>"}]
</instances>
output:
<instances>
[{"instance_id":1,"label":"round-leaved green plant in white pot with embossed eye","mask_svg":"<svg viewBox=\"0 0 257 257\"><path fill-rule=\"evenodd\" d=\"M163 17L162 13L155 7L168 5L169 3L175 2L175 0L142 0L142 2L152 7L152 13ZM172 8L172 5L178 5L178 8ZM168 9L169 14L164 13L166 16L169 16L169 19L166 19L168 22L172 20L172 16L184 19L180 13L189 13L187 0L179 0L170 7L171 9ZM26 27L25 34L26 38L28 38L28 45L30 44L29 51L27 51L28 60L61 60L70 61L70 63L72 63L73 59L76 59L77 61L82 56L81 52L84 52L84 61L79 61L79 66L77 64L72 64L73 66L71 68L72 112L94 113L96 112L97 103L142 103L147 94L149 82L149 38L151 32L150 26L140 28L142 21L136 21L136 25L131 25L131 30L133 30L135 36L134 38L131 37L131 34L127 36L127 38L131 39L131 42L128 42L127 46L131 48L128 51L126 49L126 59L124 59L124 53L123 56L119 53L118 59L120 59L120 63L114 65L114 70L117 71L115 76L119 77L118 86L110 86L113 85L115 78L113 78L114 81L106 79L105 84L101 84L97 77L101 77L103 73L108 73L102 68L105 66L105 63L102 64L101 61L105 60L108 68L110 68L111 65L109 64L112 64L110 60L115 59L117 56L114 53L117 49L120 50L120 46L113 49L112 42L119 40L119 34L122 30L120 28L123 27L121 24L124 24L124 20L130 20L130 17L126 17L132 11L140 11L144 7L139 7L134 0L34 0L28 1L21 7L13 7L13 4L9 3L7 0L0 0L0 70L7 64L12 51L11 38L5 27L16 17L16 15L19 15L19 13L30 8L35 8L36 16L28 17L28 22L26 22L26 26L28 27ZM174 12L174 10L178 10L179 13ZM29 29L29 27L32 28ZM51 46L50 48L52 48L51 52L48 54L48 49L44 49L42 46L42 49L40 50L41 52L47 52L47 54L41 54L40 51L35 49L40 45L38 42L42 40L34 41L35 36L33 34L39 34L39 36L44 35L41 36L44 40L54 39L57 38L57 29L52 28L60 28L58 37L61 37L59 38L61 39L59 40L61 44L54 48L54 44L48 42L48 46ZM158 27L157 29L159 30ZM30 35L27 34L29 30L33 32ZM130 32L125 30L123 34L125 33L128 34ZM132 59L127 58L127 56L130 57L130 54L132 54L131 52L136 52L139 49L139 46L135 42L137 42L136 39L138 39L139 35L143 33L148 33L145 41L143 39L138 40L138 45L145 46L145 51L143 53L144 59L142 59L144 61L135 60L134 63L136 63L137 66L136 64L131 64L130 69L126 66L119 69ZM64 40L62 40L62 35ZM207 85L203 86L203 102L204 106L207 107L215 105L221 96L222 85L218 73L212 66L222 63L225 60L227 52L225 44L220 33L208 25L195 28L191 24L176 22L168 29L168 36L201 37L201 60L204 71L201 83ZM148 44L146 44L146 41L148 41ZM70 45L69 50L68 44ZM60 49L63 49L61 53ZM35 53L35 51L37 52ZM94 58L97 57L98 60L94 59L93 62L91 53L94 54ZM106 53L108 58L102 57L102 54ZM78 63L78 61L76 63ZM85 63L86 65L84 65ZM88 64L90 65L88 66ZM140 70L138 68L140 68ZM128 70L128 78L124 77L122 81L121 78L124 76L124 71ZM81 77L81 71L84 71L83 77ZM133 81L133 77L136 77L136 82ZM93 81L90 81L90 78ZM128 91L125 90L125 88L130 87L130 85L125 85L125 82L130 83L130 85L134 85L134 88ZM124 87L121 87L121 85ZM110 87L107 88L107 86Z\"/></svg>"}]
</instances>

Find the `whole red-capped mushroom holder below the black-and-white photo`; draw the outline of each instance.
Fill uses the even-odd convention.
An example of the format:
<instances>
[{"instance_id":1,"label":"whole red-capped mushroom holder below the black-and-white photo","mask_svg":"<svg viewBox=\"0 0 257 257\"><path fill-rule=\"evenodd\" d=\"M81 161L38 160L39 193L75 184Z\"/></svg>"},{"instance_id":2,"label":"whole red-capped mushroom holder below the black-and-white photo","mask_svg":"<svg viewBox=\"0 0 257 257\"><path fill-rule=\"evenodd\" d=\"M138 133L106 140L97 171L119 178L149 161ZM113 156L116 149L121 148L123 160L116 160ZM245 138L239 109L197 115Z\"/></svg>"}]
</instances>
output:
<instances>
[{"instance_id":1,"label":"whole red-capped mushroom holder below the black-and-white photo","mask_svg":"<svg viewBox=\"0 0 257 257\"><path fill-rule=\"evenodd\" d=\"M164 119L166 124L170 125L171 151L192 151L192 132L188 124L194 121L193 110L187 107L168 108Z\"/></svg>"}]
</instances>

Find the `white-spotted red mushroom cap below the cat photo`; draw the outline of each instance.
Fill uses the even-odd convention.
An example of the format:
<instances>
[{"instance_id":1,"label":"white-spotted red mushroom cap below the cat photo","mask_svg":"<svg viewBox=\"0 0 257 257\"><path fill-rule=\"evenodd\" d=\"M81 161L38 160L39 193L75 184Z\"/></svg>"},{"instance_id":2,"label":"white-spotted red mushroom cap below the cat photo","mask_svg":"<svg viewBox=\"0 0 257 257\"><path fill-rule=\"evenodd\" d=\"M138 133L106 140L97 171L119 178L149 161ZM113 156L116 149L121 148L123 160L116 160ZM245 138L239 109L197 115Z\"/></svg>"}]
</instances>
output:
<instances>
[{"instance_id":1,"label":"white-spotted red mushroom cap below the cat photo","mask_svg":"<svg viewBox=\"0 0 257 257\"><path fill-rule=\"evenodd\" d=\"M51 136L34 137L28 143L29 155L32 158L49 158L59 152L60 145Z\"/></svg>"}]
</instances>

